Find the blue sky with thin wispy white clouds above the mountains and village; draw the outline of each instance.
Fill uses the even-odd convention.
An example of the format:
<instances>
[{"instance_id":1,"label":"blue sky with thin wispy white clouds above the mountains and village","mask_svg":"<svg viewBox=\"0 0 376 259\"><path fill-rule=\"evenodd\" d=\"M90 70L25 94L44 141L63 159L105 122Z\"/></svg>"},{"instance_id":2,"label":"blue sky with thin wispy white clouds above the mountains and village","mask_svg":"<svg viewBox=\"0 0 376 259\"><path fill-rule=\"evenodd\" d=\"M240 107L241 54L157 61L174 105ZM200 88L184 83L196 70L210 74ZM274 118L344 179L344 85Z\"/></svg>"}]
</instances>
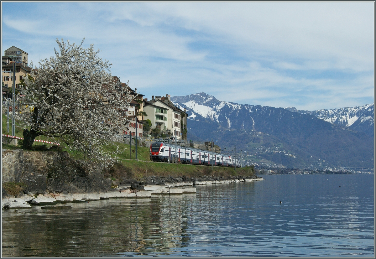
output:
<instances>
[{"instance_id":1,"label":"blue sky with thin wispy white clouds above the mountains and village","mask_svg":"<svg viewBox=\"0 0 376 259\"><path fill-rule=\"evenodd\" d=\"M94 44L152 95L302 110L374 102L373 2L2 2L2 55Z\"/></svg>"}]
</instances>

